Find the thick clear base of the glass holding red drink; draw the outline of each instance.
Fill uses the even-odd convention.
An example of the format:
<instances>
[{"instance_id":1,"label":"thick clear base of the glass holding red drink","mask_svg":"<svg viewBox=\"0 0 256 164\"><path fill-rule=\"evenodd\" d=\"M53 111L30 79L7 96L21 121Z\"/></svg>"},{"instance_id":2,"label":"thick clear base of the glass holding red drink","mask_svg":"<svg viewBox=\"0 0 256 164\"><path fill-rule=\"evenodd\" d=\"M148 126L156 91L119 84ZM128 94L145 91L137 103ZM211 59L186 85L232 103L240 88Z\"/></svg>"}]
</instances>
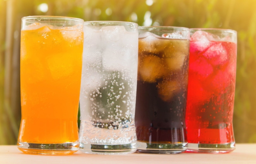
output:
<instances>
[{"instance_id":1,"label":"thick clear base of the glass holding red drink","mask_svg":"<svg viewBox=\"0 0 256 164\"><path fill-rule=\"evenodd\" d=\"M227 144L195 144L188 143L187 152L192 153L229 153L235 150L235 142Z\"/></svg>"}]
</instances>

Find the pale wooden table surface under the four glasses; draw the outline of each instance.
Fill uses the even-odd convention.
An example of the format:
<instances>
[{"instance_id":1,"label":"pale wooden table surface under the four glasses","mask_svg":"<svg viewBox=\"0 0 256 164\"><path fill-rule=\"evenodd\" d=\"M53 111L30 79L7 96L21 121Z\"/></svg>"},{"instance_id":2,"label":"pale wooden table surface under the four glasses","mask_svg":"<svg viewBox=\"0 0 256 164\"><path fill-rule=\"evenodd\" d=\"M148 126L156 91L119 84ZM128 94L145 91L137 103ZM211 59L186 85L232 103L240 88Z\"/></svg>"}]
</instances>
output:
<instances>
[{"instance_id":1,"label":"pale wooden table surface under the four glasses","mask_svg":"<svg viewBox=\"0 0 256 164\"><path fill-rule=\"evenodd\" d=\"M0 145L0 164L256 164L256 144L236 144L227 154L143 154L91 155L80 151L72 155L28 155L15 145Z\"/></svg>"}]
</instances>

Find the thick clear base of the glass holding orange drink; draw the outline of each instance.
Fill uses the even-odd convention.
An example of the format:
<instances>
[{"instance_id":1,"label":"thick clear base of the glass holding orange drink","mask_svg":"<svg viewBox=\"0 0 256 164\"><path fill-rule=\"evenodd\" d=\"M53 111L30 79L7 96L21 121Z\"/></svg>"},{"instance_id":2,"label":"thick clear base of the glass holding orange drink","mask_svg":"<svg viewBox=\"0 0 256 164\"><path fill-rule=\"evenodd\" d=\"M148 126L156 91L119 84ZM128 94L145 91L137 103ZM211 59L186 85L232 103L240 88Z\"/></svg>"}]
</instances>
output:
<instances>
[{"instance_id":1,"label":"thick clear base of the glass holding orange drink","mask_svg":"<svg viewBox=\"0 0 256 164\"><path fill-rule=\"evenodd\" d=\"M79 149L79 142L63 144L34 144L27 142L18 142L18 149L26 154L41 155L67 155L73 154Z\"/></svg>"}]
</instances>

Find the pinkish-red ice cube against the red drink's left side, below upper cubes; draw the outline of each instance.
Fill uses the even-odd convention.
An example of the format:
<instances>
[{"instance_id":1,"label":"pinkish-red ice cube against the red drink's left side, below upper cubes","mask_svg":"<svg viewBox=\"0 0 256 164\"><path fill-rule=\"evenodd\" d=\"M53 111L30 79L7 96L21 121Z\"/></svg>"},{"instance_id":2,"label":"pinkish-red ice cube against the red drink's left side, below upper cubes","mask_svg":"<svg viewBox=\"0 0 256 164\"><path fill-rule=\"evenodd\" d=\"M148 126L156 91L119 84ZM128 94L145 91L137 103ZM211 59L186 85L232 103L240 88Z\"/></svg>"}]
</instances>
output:
<instances>
[{"instance_id":1,"label":"pinkish-red ice cube against the red drink's left side, below upper cubes","mask_svg":"<svg viewBox=\"0 0 256 164\"><path fill-rule=\"evenodd\" d=\"M212 65L204 57L189 63L189 73L195 73L199 80L204 80L213 73Z\"/></svg>"}]
</instances>

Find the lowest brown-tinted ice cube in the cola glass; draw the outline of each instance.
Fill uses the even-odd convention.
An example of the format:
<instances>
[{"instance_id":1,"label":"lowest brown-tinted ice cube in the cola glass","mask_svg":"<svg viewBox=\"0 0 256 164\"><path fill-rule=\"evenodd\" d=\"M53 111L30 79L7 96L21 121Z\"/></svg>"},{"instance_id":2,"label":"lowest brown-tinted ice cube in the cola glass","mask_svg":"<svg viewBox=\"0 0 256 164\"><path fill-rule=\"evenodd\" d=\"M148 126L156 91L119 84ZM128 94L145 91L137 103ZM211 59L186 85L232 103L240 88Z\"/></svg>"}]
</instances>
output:
<instances>
[{"instance_id":1,"label":"lowest brown-tinted ice cube in the cola glass","mask_svg":"<svg viewBox=\"0 0 256 164\"><path fill-rule=\"evenodd\" d=\"M157 85L159 97L163 101L170 101L174 95L180 91L179 83L177 81L164 80Z\"/></svg>"}]
</instances>

